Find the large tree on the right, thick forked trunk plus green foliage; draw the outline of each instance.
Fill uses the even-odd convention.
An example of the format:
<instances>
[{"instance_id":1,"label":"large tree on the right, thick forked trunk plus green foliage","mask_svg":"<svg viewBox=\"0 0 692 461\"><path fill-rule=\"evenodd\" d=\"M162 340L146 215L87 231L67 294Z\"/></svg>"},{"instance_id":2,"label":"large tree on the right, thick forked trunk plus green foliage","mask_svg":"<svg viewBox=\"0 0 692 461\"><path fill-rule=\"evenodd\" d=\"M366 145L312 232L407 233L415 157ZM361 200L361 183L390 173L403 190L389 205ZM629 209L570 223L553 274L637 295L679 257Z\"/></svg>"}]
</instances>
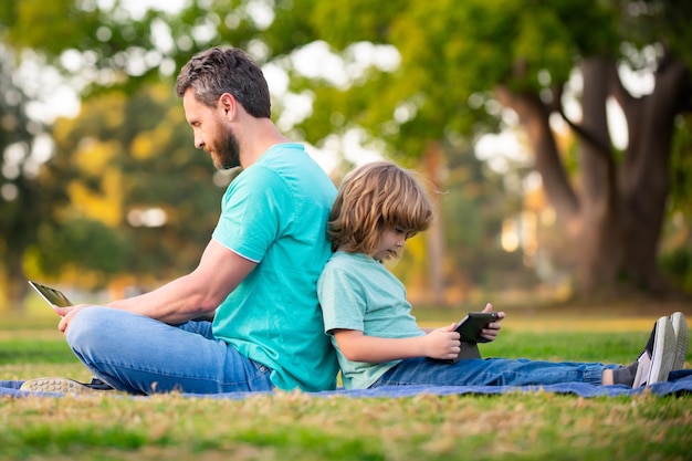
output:
<instances>
[{"instance_id":1,"label":"large tree on the right, thick forked trunk plus green foliage","mask_svg":"<svg viewBox=\"0 0 692 461\"><path fill-rule=\"evenodd\" d=\"M353 43L370 41L391 44L401 56L396 71L371 69L347 91L318 88L317 126L338 111L338 119L365 126L400 155L420 158L450 137L501 127L500 102L525 129L535 168L577 249L580 293L608 292L622 281L652 292L667 286L657 266L658 244L673 137L690 129L680 115L692 108L686 25L692 4L399 0L373 9L352 0L311 7L301 9L312 11L316 34L344 55ZM622 69L651 72L653 91L630 93ZM574 71L583 81L575 95L580 119L565 111ZM608 130L611 99L627 119L623 151ZM559 150L551 128L556 114L577 135L576 172L566 168L569 153Z\"/></svg>"}]
</instances>

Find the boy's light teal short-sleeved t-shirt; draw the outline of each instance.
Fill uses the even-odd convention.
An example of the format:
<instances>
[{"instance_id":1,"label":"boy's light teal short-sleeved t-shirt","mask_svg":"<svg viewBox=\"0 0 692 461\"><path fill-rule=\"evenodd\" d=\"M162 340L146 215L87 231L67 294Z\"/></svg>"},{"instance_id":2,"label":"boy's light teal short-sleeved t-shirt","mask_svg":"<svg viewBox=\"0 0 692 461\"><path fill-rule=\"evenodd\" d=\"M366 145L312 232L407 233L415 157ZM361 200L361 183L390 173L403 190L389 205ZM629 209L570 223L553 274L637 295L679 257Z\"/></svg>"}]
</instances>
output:
<instances>
[{"instance_id":1,"label":"boy's light teal short-sleeved t-shirt","mask_svg":"<svg viewBox=\"0 0 692 461\"><path fill-rule=\"evenodd\" d=\"M334 329L355 329L366 336L422 336L403 284L380 262L363 253L337 251L317 283L324 331L332 335L346 389L366 389L401 360L367 364L348 360L334 338Z\"/></svg>"}]
</instances>

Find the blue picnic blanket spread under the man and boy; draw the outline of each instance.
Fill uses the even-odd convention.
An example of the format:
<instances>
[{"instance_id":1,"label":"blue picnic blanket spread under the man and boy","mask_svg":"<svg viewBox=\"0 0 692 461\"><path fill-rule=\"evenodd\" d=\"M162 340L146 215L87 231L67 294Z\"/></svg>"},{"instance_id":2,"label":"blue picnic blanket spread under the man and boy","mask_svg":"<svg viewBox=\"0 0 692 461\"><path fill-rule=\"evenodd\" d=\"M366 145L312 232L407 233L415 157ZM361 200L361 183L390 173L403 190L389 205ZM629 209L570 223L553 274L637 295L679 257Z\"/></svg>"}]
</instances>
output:
<instances>
[{"instance_id":1,"label":"blue picnic blanket spread under the man and boy","mask_svg":"<svg viewBox=\"0 0 692 461\"><path fill-rule=\"evenodd\" d=\"M0 396L25 397L31 392L19 390L23 381L0 380ZM549 386L382 386L375 389L357 390L325 390L311 392L315 397L345 396L353 398L401 398L418 395L501 395L508 392L554 392L574 395L579 397L617 397L635 396L642 392L651 392L657 396L683 396L692 395L692 369L672 371L667 383L657 383L647 388L637 389L627 386L595 386L585 383L565 383ZM223 392L223 394L182 394L191 398L218 398L218 399L243 399L258 394L271 392ZM61 396L61 394L42 394L44 396ZM139 397L140 398L140 397Z\"/></svg>"}]
</instances>

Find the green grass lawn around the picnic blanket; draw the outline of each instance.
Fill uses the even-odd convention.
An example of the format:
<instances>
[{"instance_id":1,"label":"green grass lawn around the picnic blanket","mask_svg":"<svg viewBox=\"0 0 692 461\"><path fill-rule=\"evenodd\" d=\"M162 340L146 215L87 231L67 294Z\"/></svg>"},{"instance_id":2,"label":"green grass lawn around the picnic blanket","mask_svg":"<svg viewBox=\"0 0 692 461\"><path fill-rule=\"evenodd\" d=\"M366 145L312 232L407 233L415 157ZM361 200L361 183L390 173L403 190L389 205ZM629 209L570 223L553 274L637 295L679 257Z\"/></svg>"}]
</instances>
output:
<instances>
[{"instance_id":1,"label":"green grass lawn around the picnic blanket","mask_svg":"<svg viewBox=\"0 0 692 461\"><path fill-rule=\"evenodd\" d=\"M616 332L611 323L507 321L482 354L628 363L651 319L620 319ZM0 324L0 379L54 375L90 378L54 318ZM0 460L692 460L691 447L690 396L0 399Z\"/></svg>"}]
</instances>

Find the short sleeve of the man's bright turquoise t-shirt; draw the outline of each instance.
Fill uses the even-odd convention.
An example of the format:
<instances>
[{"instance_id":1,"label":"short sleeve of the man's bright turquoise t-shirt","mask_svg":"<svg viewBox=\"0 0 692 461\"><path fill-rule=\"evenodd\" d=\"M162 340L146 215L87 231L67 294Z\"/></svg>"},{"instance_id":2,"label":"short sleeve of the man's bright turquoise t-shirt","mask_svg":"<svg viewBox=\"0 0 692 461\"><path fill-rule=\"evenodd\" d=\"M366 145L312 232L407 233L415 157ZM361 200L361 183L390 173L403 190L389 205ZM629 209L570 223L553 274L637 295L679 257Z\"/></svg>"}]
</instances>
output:
<instances>
[{"instance_id":1,"label":"short sleeve of the man's bright turquoise t-shirt","mask_svg":"<svg viewBox=\"0 0 692 461\"><path fill-rule=\"evenodd\" d=\"M253 167L226 191L212 238L243 258L260 262L281 229L293 219L294 210L284 181L266 168Z\"/></svg>"}]
</instances>

